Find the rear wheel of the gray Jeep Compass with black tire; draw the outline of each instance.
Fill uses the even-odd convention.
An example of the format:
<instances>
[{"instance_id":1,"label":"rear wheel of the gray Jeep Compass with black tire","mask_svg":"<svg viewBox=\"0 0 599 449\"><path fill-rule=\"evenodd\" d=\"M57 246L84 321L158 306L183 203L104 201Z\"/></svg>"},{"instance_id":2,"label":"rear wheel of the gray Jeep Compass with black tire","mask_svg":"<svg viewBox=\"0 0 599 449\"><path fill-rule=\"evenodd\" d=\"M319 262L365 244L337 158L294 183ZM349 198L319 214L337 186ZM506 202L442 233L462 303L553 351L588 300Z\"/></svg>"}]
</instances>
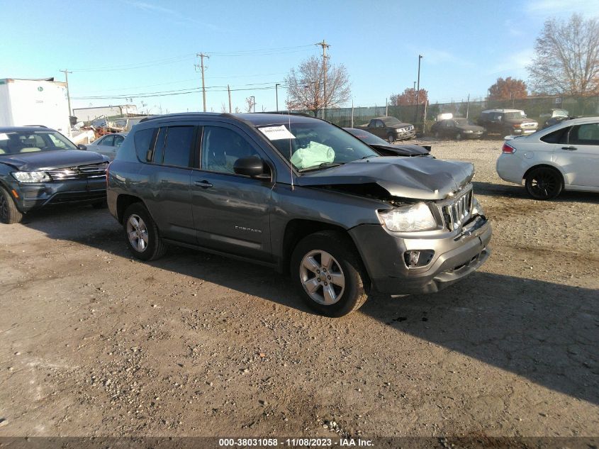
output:
<instances>
[{"instance_id":1,"label":"rear wheel of the gray Jeep Compass with black tire","mask_svg":"<svg viewBox=\"0 0 599 449\"><path fill-rule=\"evenodd\" d=\"M137 228L133 225L135 221L139 225ZM143 204L134 203L125 210L125 214L123 214L123 230L125 231L127 248L129 248L133 257L140 260L155 260L167 252L167 244L160 238L158 227ZM135 240L138 242L143 240L144 243L142 245L134 245L132 243L134 239L130 238L129 232L138 233L138 238ZM145 235L146 239L142 235Z\"/></svg>"}]
</instances>

